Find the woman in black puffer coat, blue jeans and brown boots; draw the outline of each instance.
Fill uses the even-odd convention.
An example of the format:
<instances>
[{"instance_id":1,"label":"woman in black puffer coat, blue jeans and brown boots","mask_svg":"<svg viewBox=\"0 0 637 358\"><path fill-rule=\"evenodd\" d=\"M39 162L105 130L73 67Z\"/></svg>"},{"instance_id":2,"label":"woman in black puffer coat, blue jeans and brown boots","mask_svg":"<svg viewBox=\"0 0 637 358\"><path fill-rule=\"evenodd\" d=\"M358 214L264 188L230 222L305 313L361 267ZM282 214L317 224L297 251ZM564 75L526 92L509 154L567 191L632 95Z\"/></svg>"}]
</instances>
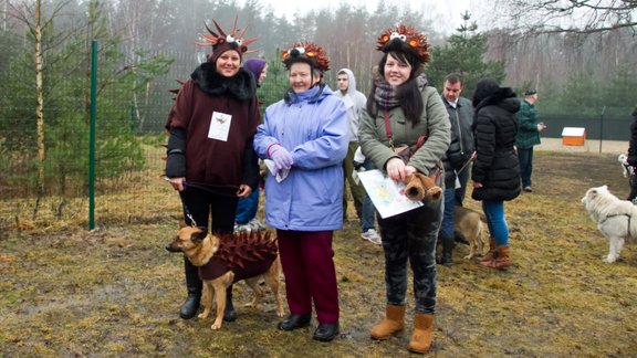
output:
<instances>
[{"instance_id":1,"label":"woman in black puffer coat, blue jeans and brown boots","mask_svg":"<svg viewBox=\"0 0 637 358\"><path fill-rule=\"evenodd\" d=\"M520 164L513 149L520 101L511 88L485 78L478 82L473 107L477 158L471 172L471 197L482 201L491 236L489 253L480 264L502 270L511 265L504 200L520 194Z\"/></svg>"}]
</instances>

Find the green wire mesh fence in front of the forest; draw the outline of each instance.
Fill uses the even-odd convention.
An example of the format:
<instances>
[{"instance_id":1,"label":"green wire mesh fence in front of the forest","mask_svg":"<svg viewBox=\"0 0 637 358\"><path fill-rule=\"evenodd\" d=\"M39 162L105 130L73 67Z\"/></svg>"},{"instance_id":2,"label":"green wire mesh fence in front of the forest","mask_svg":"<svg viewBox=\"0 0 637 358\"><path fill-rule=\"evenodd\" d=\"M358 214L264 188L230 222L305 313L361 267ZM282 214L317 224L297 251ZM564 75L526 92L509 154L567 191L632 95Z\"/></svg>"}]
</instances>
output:
<instances>
[{"instance_id":1,"label":"green wire mesh fence in front of the forest","mask_svg":"<svg viewBox=\"0 0 637 358\"><path fill-rule=\"evenodd\" d=\"M175 96L169 90L178 88L178 81L189 77L201 55L160 55L169 65L166 72L153 75L144 69L132 70L124 63L98 59L94 207L97 225L180 215L178 196L160 179L163 144L167 139L164 124ZM288 86L284 71L276 63L270 63L268 80L259 90L263 106L282 98ZM44 74L39 130L32 64L12 62L8 69L0 73L0 225L86 227L90 76L82 71ZM129 76L123 72L135 73ZM589 134L604 139L623 140L629 125L628 115L613 110L607 112L606 118L546 119L551 130L585 120Z\"/></svg>"}]
</instances>

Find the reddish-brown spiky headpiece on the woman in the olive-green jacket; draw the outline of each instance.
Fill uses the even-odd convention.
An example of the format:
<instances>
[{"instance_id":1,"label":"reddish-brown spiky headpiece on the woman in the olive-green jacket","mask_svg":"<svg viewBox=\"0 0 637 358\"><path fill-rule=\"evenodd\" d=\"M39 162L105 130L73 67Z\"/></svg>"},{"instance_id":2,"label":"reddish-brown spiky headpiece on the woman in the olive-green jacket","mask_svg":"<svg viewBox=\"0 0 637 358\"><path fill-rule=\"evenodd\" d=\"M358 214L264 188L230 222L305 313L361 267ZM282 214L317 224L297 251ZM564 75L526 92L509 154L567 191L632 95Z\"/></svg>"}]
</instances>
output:
<instances>
[{"instance_id":1,"label":"reddish-brown spiky headpiece on the woman in the olive-green jacket","mask_svg":"<svg viewBox=\"0 0 637 358\"><path fill-rule=\"evenodd\" d=\"M410 25L399 24L385 30L376 43L378 51L410 53L416 56L420 64L425 64L431 59L427 36Z\"/></svg>"}]
</instances>

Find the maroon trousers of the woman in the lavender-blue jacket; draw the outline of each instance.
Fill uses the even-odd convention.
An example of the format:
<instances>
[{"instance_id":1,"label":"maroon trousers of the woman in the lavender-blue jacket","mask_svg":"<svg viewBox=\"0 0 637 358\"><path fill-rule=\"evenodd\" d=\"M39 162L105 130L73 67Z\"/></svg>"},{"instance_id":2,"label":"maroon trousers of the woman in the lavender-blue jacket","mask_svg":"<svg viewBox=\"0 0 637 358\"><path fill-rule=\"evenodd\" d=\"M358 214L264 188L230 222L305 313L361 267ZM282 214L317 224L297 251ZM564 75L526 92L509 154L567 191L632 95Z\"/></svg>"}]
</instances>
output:
<instances>
[{"instance_id":1,"label":"maroon trousers of the woman in the lavender-blue jacket","mask_svg":"<svg viewBox=\"0 0 637 358\"><path fill-rule=\"evenodd\" d=\"M276 230L290 313L311 314L313 301L316 319L322 324L338 322L332 236L332 231Z\"/></svg>"}]
</instances>

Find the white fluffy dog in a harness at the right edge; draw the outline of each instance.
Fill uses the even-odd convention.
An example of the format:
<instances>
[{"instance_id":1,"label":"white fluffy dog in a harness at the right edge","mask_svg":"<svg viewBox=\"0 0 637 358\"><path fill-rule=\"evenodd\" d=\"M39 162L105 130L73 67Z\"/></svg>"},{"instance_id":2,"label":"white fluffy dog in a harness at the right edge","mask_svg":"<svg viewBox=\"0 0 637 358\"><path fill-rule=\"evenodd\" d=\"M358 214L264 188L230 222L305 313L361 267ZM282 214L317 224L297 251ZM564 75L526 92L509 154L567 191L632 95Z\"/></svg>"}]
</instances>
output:
<instances>
[{"instance_id":1,"label":"white fluffy dog in a harness at the right edge","mask_svg":"<svg viewBox=\"0 0 637 358\"><path fill-rule=\"evenodd\" d=\"M588 189L582 203L597 223L597 229L608 238L610 249L604 262L615 262L625 241L637 242L637 207L630 201L619 200L607 186L603 186Z\"/></svg>"}]
</instances>

